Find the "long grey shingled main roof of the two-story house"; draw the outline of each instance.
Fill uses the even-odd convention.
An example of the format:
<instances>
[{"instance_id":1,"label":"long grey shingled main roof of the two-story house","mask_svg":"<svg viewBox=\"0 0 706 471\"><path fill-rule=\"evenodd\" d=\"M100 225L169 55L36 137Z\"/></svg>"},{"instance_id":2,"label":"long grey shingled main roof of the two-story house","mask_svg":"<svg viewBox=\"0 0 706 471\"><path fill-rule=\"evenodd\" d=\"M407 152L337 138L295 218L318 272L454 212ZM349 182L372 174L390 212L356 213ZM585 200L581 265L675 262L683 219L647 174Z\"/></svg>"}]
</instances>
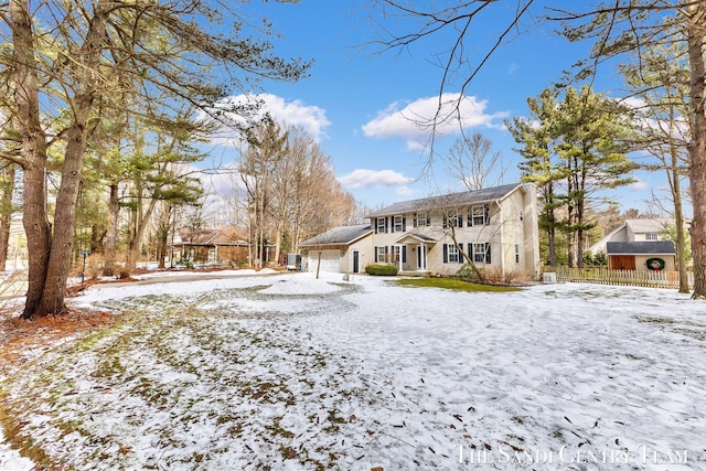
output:
<instances>
[{"instance_id":1,"label":"long grey shingled main roof of the two-story house","mask_svg":"<svg viewBox=\"0 0 706 471\"><path fill-rule=\"evenodd\" d=\"M440 206L460 206L471 203L485 203L502 200L517 188L523 188L523 183L512 183L507 185L493 186L475 191L462 191L449 193L440 196L429 196L419 200L400 201L370 213L366 217L386 216L391 214L404 214L413 211L429 211Z\"/></svg>"}]
</instances>

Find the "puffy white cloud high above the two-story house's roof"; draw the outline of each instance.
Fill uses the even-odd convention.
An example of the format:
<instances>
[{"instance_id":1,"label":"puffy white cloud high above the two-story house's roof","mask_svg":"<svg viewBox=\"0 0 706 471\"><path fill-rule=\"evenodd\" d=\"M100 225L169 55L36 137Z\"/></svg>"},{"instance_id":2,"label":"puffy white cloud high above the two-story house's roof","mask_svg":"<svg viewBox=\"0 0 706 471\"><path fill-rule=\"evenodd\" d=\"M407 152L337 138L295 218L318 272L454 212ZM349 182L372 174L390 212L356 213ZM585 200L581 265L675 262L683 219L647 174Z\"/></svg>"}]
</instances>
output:
<instances>
[{"instance_id":1,"label":"puffy white cloud high above the two-story house's roof","mask_svg":"<svg viewBox=\"0 0 706 471\"><path fill-rule=\"evenodd\" d=\"M403 138L409 149L424 147L434 130L437 136L451 135L460 128L501 128L496 119L506 113L486 114L486 100L460 94L419 98L406 105L391 104L375 119L362 127L367 137L379 139Z\"/></svg>"}]
</instances>

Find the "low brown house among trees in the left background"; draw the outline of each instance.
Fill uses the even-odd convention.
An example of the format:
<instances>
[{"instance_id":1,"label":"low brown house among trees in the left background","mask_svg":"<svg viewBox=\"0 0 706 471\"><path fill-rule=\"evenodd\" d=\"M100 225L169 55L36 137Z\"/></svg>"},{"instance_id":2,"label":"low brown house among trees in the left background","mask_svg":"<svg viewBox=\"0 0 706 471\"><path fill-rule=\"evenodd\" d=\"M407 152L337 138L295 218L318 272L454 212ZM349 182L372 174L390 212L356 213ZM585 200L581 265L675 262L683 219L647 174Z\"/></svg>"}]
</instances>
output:
<instances>
[{"instance_id":1,"label":"low brown house among trees in the left background","mask_svg":"<svg viewBox=\"0 0 706 471\"><path fill-rule=\"evenodd\" d=\"M172 242L173 259L206 264L248 265L247 229L235 226L193 229L180 227Z\"/></svg>"}]
</instances>

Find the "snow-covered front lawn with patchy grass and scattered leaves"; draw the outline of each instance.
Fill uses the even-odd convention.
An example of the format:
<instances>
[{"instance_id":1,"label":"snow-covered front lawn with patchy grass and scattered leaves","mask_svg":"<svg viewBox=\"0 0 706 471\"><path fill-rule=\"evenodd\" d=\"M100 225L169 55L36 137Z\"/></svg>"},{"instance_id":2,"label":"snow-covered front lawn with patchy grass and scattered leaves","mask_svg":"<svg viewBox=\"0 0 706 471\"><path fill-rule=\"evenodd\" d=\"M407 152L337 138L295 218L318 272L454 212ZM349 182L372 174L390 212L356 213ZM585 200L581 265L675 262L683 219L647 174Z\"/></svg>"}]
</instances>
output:
<instances>
[{"instance_id":1,"label":"snow-covered front lawn with patchy grass and scattered leaves","mask_svg":"<svg viewBox=\"0 0 706 471\"><path fill-rule=\"evenodd\" d=\"M72 302L126 314L0 385L61 469L706 469L706 303L675 291L291 274Z\"/></svg>"}]
</instances>

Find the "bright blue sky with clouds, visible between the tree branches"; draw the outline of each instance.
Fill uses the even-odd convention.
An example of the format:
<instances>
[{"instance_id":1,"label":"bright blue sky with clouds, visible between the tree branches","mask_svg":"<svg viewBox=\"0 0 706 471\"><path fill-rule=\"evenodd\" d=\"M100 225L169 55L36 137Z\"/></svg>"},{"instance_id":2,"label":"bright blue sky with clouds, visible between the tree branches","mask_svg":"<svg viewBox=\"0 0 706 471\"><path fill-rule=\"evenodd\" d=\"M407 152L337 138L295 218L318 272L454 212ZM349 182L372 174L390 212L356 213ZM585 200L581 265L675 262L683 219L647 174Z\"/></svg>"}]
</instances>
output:
<instances>
[{"instance_id":1,"label":"bright blue sky with clouds, visible between the tree branches","mask_svg":"<svg viewBox=\"0 0 706 471\"><path fill-rule=\"evenodd\" d=\"M448 178L437 164L434 181L419 179L428 154L420 148L425 133L410 114L432 113L442 71L434 54L448 47L449 38L429 36L408 51L379 53L363 46L375 38L370 11L363 0L301 0L300 3L252 2L253 18L267 17L284 39L275 46L284 57L313 58L311 76L296 84L267 82L263 98L277 119L300 125L331 156L339 181L356 200L371 208L400 200L425 197L439 191L459 191L460 182ZM514 14L510 2L500 1L482 17L474 30L473 47L484 54ZM391 22L391 28L405 24ZM484 65L467 89L467 132L481 132L503 156L503 183L518 180L518 156L503 119L525 116L526 99L538 95L561 72L586 55L587 44L569 44L552 26L533 29L504 44ZM621 81L613 71L602 71L596 89L620 96ZM448 92L454 92L449 89ZM402 111L402 113L400 113ZM459 136L457 128L436 141L443 154ZM224 160L228 160L224 151ZM495 175L496 176L496 175ZM644 206L650 189L660 186L660 175L641 173L630 189L609 193L623 206Z\"/></svg>"}]
</instances>

